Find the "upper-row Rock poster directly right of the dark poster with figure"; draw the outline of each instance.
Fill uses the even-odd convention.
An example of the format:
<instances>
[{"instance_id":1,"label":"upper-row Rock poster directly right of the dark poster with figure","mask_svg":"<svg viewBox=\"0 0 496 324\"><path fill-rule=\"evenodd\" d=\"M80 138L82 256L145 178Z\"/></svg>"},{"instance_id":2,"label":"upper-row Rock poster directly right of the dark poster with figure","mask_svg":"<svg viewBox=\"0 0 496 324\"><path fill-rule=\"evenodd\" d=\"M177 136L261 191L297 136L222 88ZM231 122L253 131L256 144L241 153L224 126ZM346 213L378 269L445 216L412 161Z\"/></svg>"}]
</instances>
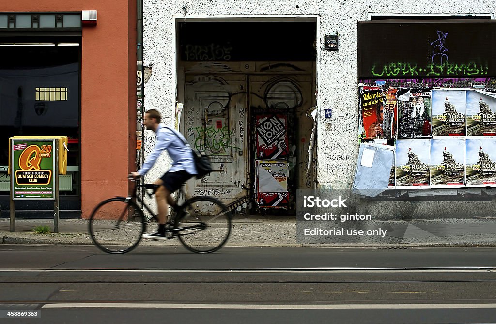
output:
<instances>
[{"instance_id":1,"label":"upper-row Rock poster directly right of the dark poster with figure","mask_svg":"<svg viewBox=\"0 0 496 324\"><path fill-rule=\"evenodd\" d=\"M467 133L466 90L434 89L433 136L465 136Z\"/></svg>"}]
</instances>

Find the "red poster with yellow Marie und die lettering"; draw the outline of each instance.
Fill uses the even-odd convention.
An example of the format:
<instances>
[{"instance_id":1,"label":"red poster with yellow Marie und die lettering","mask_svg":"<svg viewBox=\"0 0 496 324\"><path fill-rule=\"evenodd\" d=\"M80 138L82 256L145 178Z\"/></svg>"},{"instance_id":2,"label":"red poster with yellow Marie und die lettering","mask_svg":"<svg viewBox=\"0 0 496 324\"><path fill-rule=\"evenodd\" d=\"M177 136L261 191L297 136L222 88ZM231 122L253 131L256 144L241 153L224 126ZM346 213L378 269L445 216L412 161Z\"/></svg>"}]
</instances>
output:
<instances>
[{"instance_id":1,"label":"red poster with yellow Marie und die lettering","mask_svg":"<svg viewBox=\"0 0 496 324\"><path fill-rule=\"evenodd\" d=\"M360 94L360 115L363 126L361 138L382 138L384 113L382 90L367 90Z\"/></svg>"}]
</instances>

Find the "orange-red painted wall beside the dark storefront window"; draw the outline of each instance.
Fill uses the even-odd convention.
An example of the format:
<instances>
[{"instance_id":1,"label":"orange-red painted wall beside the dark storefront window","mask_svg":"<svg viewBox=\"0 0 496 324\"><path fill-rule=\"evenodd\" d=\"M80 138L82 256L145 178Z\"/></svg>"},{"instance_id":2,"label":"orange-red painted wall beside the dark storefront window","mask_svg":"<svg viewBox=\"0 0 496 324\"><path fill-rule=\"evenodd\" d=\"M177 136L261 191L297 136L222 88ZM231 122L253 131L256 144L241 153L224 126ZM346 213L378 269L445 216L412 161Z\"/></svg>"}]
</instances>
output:
<instances>
[{"instance_id":1,"label":"orange-red painted wall beside the dark storefront window","mask_svg":"<svg viewBox=\"0 0 496 324\"><path fill-rule=\"evenodd\" d=\"M134 2L135 3L135 2ZM82 217L104 198L127 194L134 161L129 106L135 87L135 4L115 0L3 1L0 11L97 10L98 23L83 26L81 63ZM134 13L134 14L133 14ZM129 20L131 16L132 20ZM135 40L135 38L134 38ZM131 54L130 54L131 53ZM135 56L134 56L135 58ZM134 81L132 81L134 80Z\"/></svg>"}]
</instances>

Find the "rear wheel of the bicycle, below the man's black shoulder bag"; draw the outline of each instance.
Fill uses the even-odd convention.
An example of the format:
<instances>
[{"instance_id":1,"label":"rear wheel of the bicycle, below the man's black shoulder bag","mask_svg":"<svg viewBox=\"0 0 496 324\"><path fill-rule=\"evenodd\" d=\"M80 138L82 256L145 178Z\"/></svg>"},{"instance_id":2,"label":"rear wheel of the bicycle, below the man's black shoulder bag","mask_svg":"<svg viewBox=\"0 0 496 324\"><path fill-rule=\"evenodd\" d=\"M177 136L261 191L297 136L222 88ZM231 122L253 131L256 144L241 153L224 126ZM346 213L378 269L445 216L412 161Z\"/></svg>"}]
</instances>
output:
<instances>
[{"instance_id":1,"label":"rear wheel of the bicycle, below the man's black shoulder bag","mask_svg":"<svg viewBox=\"0 0 496 324\"><path fill-rule=\"evenodd\" d=\"M181 243L194 253L219 250L231 234L231 211L218 199L198 196L186 200L176 220Z\"/></svg>"}]
</instances>

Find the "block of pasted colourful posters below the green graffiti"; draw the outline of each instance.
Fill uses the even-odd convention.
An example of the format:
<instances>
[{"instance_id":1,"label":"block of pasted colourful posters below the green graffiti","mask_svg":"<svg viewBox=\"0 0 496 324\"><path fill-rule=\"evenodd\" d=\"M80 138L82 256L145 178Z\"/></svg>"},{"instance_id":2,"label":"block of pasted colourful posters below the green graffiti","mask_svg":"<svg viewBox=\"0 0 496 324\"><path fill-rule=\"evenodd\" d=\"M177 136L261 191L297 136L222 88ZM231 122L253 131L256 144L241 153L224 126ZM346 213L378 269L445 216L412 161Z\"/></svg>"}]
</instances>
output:
<instances>
[{"instance_id":1,"label":"block of pasted colourful posters below the green graffiti","mask_svg":"<svg viewBox=\"0 0 496 324\"><path fill-rule=\"evenodd\" d=\"M395 146L389 189L496 187L494 90L361 90L360 137Z\"/></svg>"}]
</instances>

